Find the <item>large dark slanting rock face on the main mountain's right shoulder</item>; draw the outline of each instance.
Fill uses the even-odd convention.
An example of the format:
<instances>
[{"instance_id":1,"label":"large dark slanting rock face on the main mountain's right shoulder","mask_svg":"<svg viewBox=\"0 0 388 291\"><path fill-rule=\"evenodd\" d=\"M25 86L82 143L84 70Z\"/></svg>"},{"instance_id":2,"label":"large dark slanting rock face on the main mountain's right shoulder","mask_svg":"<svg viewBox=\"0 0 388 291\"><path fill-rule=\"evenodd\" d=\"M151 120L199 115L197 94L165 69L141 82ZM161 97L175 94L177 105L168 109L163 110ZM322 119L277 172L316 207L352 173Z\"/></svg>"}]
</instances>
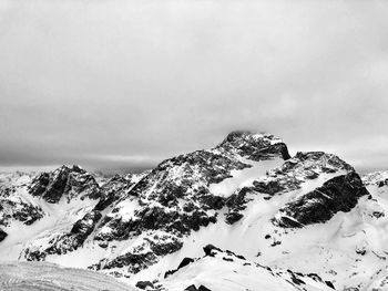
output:
<instances>
[{"instance_id":1,"label":"large dark slanting rock face on the main mountain's right shoulder","mask_svg":"<svg viewBox=\"0 0 388 291\"><path fill-rule=\"evenodd\" d=\"M298 228L329 220L338 211L350 211L358 198L369 195L355 172L329 179L279 210L275 222L280 227Z\"/></svg>"}]
</instances>

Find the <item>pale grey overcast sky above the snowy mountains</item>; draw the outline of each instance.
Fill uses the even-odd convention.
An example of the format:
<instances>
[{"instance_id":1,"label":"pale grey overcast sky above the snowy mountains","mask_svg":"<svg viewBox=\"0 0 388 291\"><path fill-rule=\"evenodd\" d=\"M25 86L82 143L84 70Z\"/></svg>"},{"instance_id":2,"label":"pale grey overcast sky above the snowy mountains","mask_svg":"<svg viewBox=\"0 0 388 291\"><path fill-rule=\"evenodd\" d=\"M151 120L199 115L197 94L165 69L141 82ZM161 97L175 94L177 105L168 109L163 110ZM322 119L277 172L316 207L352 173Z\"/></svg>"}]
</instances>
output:
<instances>
[{"instance_id":1,"label":"pale grey overcast sky above the snowy mountains","mask_svg":"<svg viewBox=\"0 0 388 291\"><path fill-rule=\"evenodd\" d=\"M388 1L0 0L0 166L137 169L233 129L388 168Z\"/></svg>"}]
</instances>

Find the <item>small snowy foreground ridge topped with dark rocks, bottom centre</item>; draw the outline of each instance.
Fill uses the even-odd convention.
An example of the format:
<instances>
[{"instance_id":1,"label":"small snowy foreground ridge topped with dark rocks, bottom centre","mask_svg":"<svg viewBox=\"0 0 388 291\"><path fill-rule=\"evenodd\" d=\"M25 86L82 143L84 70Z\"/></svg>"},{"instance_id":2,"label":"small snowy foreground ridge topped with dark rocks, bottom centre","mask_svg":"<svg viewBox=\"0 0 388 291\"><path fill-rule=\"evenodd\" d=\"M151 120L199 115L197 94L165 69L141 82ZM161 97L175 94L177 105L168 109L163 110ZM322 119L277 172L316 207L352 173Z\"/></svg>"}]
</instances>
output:
<instances>
[{"instance_id":1,"label":"small snowy foreground ridge topped with dark rocks, bottom centre","mask_svg":"<svg viewBox=\"0 0 388 291\"><path fill-rule=\"evenodd\" d=\"M185 258L176 270L155 283L159 290L331 290L329 282L315 273L296 273L278 270L246 260L232 251L223 251L212 245L204 247L205 257Z\"/></svg>"}]
</instances>

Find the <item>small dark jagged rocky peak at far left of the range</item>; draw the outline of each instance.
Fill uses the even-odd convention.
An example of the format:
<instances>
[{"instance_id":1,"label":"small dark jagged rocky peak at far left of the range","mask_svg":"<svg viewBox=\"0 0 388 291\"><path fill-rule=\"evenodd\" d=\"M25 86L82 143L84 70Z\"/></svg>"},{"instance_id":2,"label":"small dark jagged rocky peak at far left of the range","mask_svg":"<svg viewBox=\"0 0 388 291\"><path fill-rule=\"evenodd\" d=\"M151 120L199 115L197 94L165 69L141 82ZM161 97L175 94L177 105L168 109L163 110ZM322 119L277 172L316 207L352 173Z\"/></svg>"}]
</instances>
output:
<instances>
[{"instance_id":1,"label":"small dark jagged rocky peak at far left of the range","mask_svg":"<svg viewBox=\"0 0 388 291\"><path fill-rule=\"evenodd\" d=\"M62 197L98 199L102 195L94 177L79 166L62 166L53 173L42 173L33 179L29 191L51 204L58 202Z\"/></svg>"}]
</instances>

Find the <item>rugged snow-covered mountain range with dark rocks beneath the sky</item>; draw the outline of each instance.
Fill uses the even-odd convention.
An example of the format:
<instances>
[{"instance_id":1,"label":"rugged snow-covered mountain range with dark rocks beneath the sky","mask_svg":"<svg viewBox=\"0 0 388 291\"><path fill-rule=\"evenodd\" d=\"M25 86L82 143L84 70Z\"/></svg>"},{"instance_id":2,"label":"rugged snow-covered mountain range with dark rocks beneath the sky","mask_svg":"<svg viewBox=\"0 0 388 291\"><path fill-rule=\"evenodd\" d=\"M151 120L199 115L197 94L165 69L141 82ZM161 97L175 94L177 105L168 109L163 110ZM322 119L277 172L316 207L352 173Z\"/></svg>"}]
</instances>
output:
<instances>
[{"instance_id":1,"label":"rugged snow-covered mountain range with dark rocks beneath the sky","mask_svg":"<svg viewBox=\"0 0 388 291\"><path fill-rule=\"evenodd\" d=\"M1 174L0 260L152 290L388 290L387 177L248 132L142 175Z\"/></svg>"}]
</instances>

